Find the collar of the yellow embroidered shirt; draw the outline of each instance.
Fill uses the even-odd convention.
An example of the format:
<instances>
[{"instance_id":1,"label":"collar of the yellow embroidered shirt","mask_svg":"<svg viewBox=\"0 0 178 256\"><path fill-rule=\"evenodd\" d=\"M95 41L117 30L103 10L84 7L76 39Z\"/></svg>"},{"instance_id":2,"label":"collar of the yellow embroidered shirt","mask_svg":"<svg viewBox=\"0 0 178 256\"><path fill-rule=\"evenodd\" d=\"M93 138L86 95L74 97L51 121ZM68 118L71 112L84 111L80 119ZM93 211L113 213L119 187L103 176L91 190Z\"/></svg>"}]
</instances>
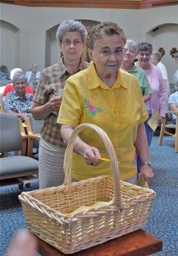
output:
<instances>
[{"instance_id":1,"label":"collar of the yellow embroidered shirt","mask_svg":"<svg viewBox=\"0 0 178 256\"><path fill-rule=\"evenodd\" d=\"M119 87L128 88L128 85L125 83L122 83L121 79L121 73L123 73L123 70L117 71L117 80L115 81L113 87L108 87L102 79L98 76L96 70L95 70L95 64L92 62L89 66L89 69L91 70L91 77L89 77L89 89L95 89L98 87L102 87L102 89L118 89Z\"/></svg>"}]
</instances>

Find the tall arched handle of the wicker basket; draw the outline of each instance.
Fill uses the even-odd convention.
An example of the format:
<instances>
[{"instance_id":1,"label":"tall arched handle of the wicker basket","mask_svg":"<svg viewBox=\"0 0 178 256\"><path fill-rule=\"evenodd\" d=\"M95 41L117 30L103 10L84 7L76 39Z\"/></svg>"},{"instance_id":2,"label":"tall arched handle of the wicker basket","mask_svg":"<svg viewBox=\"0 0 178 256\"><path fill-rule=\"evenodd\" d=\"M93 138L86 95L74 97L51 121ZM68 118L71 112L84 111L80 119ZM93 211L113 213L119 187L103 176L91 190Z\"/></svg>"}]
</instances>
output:
<instances>
[{"instance_id":1,"label":"tall arched handle of the wicker basket","mask_svg":"<svg viewBox=\"0 0 178 256\"><path fill-rule=\"evenodd\" d=\"M90 128L91 130L94 130L95 132L97 132L98 135L100 136L100 138L102 139L102 141L104 142L104 145L108 152L108 156L110 158L110 164L111 164L111 167L113 170L113 178L114 178L113 205L115 207L119 207L120 209L123 209L123 205L121 203L121 192L120 192L121 184L120 184L120 177L119 177L119 167L118 167L117 157L115 154L113 144L111 143L106 132L104 132L104 130L102 130L98 126L95 126L94 124L80 124L72 132L72 135L68 142L68 146L66 147L66 150L65 150L65 158L64 158L65 180L64 180L64 184L66 184L68 186L72 182L71 163L72 163L72 152L74 149L74 141L75 141L78 133L85 128Z\"/></svg>"}]
</instances>

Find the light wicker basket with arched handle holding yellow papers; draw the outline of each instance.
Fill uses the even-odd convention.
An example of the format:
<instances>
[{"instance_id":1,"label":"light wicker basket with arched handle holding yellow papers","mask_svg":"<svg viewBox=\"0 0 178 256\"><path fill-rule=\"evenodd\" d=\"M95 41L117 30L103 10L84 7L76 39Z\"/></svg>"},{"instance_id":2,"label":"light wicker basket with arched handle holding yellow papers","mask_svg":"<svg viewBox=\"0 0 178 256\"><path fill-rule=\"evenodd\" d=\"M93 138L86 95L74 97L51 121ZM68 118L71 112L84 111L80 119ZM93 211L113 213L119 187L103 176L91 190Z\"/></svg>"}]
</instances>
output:
<instances>
[{"instance_id":1,"label":"light wicker basket with arched handle holding yellow papers","mask_svg":"<svg viewBox=\"0 0 178 256\"><path fill-rule=\"evenodd\" d=\"M102 138L111 160L113 177L102 175L71 182L74 140L84 128L91 128ZM64 162L63 185L19 195L29 231L59 251L71 254L118 238L146 224L155 192L119 180L113 145L101 128L80 124L72 133ZM108 203L104 206L91 206L98 201ZM81 205L91 207L71 214Z\"/></svg>"}]
</instances>

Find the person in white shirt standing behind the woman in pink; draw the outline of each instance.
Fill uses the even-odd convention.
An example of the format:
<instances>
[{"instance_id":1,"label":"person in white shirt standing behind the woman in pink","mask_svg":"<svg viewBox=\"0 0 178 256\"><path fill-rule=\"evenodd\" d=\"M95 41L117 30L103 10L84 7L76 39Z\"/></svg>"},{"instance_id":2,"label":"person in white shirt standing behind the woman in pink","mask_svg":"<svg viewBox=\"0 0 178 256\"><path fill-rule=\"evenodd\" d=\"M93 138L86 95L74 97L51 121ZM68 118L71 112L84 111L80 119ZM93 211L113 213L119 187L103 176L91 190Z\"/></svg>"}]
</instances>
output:
<instances>
[{"instance_id":1,"label":"person in white shirt standing behind the woman in pink","mask_svg":"<svg viewBox=\"0 0 178 256\"><path fill-rule=\"evenodd\" d=\"M162 73L162 78L163 78L164 85L166 87L167 97L168 97L170 95L170 85L168 81L168 74L167 74L166 67L164 66L161 60L162 60L162 54L159 51L153 51L153 53L151 53L150 61L153 65L157 66L160 72Z\"/></svg>"}]
</instances>

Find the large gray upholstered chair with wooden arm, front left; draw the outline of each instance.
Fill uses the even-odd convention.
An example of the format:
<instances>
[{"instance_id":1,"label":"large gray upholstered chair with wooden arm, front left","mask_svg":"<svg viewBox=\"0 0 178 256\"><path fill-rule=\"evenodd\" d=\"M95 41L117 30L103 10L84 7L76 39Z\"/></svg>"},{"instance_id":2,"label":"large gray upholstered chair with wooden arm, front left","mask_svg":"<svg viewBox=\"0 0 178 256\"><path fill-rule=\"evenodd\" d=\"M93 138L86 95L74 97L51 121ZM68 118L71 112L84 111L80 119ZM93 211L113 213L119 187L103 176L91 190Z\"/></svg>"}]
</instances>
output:
<instances>
[{"instance_id":1,"label":"large gray upholstered chair with wooden arm, front left","mask_svg":"<svg viewBox=\"0 0 178 256\"><path fill-rule=\"evenodd\" d=\"M27 139L22 122L10 113L0 113L1 144L0 144L0 186L12 184L30 184L37 181L38 160L27 156ZM7 156L6 152L20 152ZM6 157L4 157L6 156ZM34 176L35 175L35 176Z\"/></svg>"}]
</instances>

